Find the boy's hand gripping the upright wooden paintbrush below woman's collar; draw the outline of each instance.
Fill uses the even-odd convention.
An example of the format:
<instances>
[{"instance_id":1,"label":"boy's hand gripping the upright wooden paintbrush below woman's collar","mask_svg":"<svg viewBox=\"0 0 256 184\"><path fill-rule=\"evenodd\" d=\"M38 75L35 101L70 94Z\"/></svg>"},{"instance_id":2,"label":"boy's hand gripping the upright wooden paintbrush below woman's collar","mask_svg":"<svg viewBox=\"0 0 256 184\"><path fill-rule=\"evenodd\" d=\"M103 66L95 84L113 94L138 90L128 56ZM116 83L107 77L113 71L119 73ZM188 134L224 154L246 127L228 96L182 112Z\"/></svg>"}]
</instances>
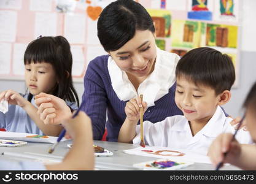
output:
<instances>
[{"instance_id":1,"label":"boy's hand gripping the upright wooden paintbrush below woman's collar","mask_svg":"<svg viewBox=\"0 0 256 184\"><path fill-rule=\"evenodd\" d=\"M125 105L126 118L129 121L138 123L139 121L139 107L143 107L143 113L147 109L147 102L141 102L141 98L130 99Z\"/></svg>"}]
</instances>

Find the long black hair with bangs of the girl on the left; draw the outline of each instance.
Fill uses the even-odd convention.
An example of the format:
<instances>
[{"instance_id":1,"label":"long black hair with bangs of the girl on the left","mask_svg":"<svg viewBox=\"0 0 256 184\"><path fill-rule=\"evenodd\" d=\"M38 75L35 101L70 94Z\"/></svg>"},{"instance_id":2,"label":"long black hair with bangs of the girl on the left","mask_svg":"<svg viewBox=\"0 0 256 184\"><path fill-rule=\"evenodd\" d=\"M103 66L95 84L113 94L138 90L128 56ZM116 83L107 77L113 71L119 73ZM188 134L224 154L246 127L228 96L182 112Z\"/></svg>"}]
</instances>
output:
<instances>
[{"instance_id":1,"label":"long black hair with bangs of the girl on the left","mask_svg":"<svg viewBox=\"0 0 256 184\"><path fill-rule=\"evenodd\" d=\"M33 40L24 55L24 64L31 63L52 64L58 81L52 94L63 100L76 101L79 106L79 98L72 82L72 54L68 40L63 36L44 36ZM32 97L29 93L30 101Z\"/></svg>"}]
</instances>

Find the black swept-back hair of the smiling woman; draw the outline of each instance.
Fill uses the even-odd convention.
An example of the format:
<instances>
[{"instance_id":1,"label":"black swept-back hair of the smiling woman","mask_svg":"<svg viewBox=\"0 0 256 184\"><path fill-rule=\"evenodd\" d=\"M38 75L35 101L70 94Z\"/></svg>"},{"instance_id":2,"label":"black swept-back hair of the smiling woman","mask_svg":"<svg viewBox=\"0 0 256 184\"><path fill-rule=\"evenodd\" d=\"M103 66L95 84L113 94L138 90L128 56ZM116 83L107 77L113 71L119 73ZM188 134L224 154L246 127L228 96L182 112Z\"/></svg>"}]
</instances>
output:
<instances>
[{"instance_id":1,"label":"black swept-back hair of the smiling woman","mask_svg":"<svg viewBox=\"0 0 256 184\"><path fill-rule=\"evenodd\" d=\"M98 37L106 52L118 50L134 37L136 30L155 33L147 10L133 0L118 0L103 9L98 20Z\"/></svg>"}]
</instances>

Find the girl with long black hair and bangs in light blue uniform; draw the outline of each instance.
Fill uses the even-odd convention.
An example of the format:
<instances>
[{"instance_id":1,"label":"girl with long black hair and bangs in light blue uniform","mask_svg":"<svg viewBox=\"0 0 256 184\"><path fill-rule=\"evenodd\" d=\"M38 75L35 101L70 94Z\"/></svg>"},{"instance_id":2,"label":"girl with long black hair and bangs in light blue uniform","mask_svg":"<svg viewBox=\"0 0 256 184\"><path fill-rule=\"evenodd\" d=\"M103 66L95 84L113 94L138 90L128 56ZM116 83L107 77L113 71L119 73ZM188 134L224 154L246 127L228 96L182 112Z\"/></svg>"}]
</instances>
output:
<instances>
[{"instance_id":1,"label":"girl with long black hair and bangs in light blue uniform","mask_svg":"<svg viewBox=\"0 0 256 184\"><path fill-rule=\"evenodd\" d=\"M66 101L69 111L79 105L72 85L72 55L68 40L62 36L33 40L26 48L24 64L28 90L25 94L12 90L0 93L0 102L6 100L9 103L8 112L0 112L0 128L11 132L57 136L62 126L45 125L40 117L47 118L46 112L37 115L33 97L41 92L53 94ZM55 111L49 104L44 105L49 107L48 112Z\"/></svg>"}]
</instances>

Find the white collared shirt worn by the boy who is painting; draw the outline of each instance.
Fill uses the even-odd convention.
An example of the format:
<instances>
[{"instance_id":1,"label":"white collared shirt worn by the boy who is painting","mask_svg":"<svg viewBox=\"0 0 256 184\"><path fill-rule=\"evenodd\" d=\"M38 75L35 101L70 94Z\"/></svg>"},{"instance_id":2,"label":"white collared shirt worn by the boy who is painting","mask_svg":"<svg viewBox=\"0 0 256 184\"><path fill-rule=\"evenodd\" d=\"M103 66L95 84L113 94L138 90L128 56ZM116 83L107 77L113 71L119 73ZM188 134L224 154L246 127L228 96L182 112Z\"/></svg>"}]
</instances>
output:
<instances>
[{"instance_id":1,"label":"white collared shirt worn by the boy who is painting","mask_svg":"<svg viewBox=\"0 0 256 184\"><path fill-rule=\"evenodd\" d=\"M144 121L144 141L150 146L180 148L206 155L212 141L220 133L235 132L235 128L230 125L232 120L225 117L225 113L218 106L212 118L195 136L192 136L188 120L182 115L167 117L157 123ZM136 134L133 144L141 142L140 125L136 126ZM242 129L236 134L236 140L241 144L252 144L249 132Z\"/></svg>"}]
</instances>

